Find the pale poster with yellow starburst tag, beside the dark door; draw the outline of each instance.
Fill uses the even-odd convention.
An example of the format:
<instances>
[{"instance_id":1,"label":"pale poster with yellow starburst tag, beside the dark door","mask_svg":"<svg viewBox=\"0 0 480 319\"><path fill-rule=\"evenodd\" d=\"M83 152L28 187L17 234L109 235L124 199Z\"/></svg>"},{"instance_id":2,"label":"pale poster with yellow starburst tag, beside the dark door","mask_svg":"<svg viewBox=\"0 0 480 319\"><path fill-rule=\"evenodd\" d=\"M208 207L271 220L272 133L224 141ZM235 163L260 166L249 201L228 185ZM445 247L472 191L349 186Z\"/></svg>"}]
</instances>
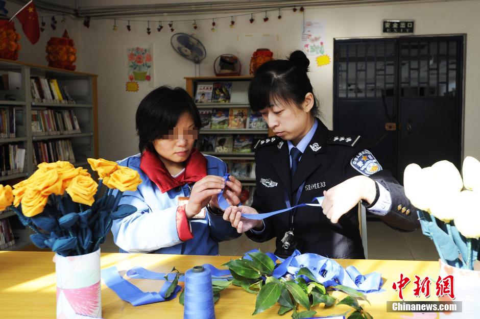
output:
<instances>
[{"instance_id":1,"label":"pale poster with yellow starburst tag, beside the dark door","mask_svg":"<svg viewBox=\"0 0 480 319\"><path fill-rule=\"evenodd\" d=\"M330 64L330 57L325 54L325 23L305 21L301 23L301 45L307 57L316 57L317 66Z\"/></svg>"}]
</instances>

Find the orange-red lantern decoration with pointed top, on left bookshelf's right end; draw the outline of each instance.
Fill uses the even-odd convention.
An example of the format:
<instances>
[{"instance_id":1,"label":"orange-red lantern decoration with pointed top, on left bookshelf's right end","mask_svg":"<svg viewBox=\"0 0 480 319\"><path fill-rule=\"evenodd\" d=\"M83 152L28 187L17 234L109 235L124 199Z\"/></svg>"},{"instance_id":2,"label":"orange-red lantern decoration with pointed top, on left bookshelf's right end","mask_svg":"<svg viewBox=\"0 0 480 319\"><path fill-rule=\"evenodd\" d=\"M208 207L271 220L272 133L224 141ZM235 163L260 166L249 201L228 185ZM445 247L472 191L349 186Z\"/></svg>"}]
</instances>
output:
<instances>
[{"instance_id":1,"label":"orange-red lantern decoration with pointed top, on left bookshelf's right end","mask_svg":"<svg viewBox=\"0 0 480 319\"><path fill-rule=\"evenodd\" d=\"M46 60L49 66L74 71L77 66L77 49L74 47L74 40L70 39L65 30L61 38L52 37L46 43Z\"/></svg>"}]
</instances>

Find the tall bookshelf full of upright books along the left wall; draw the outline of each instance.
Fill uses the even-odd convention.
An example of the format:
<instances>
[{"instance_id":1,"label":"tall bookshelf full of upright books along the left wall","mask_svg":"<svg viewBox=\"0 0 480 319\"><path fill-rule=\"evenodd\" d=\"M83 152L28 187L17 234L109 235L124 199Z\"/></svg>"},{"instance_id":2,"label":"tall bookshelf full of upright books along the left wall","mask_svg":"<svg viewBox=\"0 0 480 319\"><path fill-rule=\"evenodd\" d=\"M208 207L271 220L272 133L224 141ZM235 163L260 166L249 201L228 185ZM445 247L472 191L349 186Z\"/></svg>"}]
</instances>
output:
<instances>
[{"instance_id":1,"label":"tall bookshelf full of upright books along the left wall","mask_svg":"<svg viewBox=\"0 0 480 319\"><path fill-rule=\"evenodd\" d=\"M0 59L1 183L28 178L43 161L88 166L99 153L97 107L97 75ZM28 246L30 231L18 218L2 218L15 238L4 249Z\"/></svg>"}]
</instances>

